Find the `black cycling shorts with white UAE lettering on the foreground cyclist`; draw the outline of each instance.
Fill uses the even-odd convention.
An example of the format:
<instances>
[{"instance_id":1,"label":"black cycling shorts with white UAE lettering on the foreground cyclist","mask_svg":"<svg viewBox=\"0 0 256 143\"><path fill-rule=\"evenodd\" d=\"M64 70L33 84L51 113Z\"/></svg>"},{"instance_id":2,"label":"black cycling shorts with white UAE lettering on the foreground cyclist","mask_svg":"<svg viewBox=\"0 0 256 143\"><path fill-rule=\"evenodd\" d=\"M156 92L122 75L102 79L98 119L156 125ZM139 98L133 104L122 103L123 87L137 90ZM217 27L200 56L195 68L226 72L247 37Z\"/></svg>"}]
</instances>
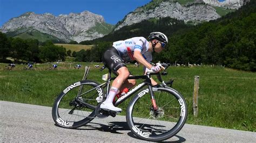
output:
<instances>
[{"instance_id":1,"label":"black cycling shorts with white UAE lettering on the foreground cyclist","mask_svg":"<svg viewBox=\"0 0 256 143\"><path fill-rule=\"evenodd\" d=\"M121 67L126 67L123 59L120 57L116 48L111 47L105 51L102 56L104 65L111 69L111 71L117 75L117 70Z\"/></svg>"}]
</instances>

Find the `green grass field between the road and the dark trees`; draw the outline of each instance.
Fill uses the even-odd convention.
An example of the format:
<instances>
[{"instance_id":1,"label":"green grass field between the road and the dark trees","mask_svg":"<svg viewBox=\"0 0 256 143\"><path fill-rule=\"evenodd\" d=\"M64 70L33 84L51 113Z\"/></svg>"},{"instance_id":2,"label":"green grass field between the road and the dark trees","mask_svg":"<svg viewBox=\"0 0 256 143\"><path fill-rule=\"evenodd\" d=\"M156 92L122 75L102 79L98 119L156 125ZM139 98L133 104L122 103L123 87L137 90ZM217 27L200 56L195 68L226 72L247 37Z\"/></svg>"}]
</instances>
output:
<instances>
[{"instance_id":1,"label":"green grass field between the road and the dark trees","mask_svg":"<svg viewBox=\"0 0 256 143\"><path fill-rule=\"evenodd\" d=\"M19 103L52 106L55 98L68 85L82 80L84 66L91 66L89 80L102 83L101 76L107 70L94 68L98 63L82 63L81 69L74 69L77 63L58 63L56 70L48 70L51 64L36 65L35 70L23 70L17 65L14 70L4 70L0 64L0 100ZM70 69L71 67L71 69ZM128 66L133 75L142 74L142 67ZM256 73L222 67L170 67L164 80L174 79L173 88L186 99L188 124L256 131ZM200 76L199 115L193 116L194 76ZM137 83L141 82L137 81ZM130 99L120 104L125 109Z\"/></svg>"}]
</instances>

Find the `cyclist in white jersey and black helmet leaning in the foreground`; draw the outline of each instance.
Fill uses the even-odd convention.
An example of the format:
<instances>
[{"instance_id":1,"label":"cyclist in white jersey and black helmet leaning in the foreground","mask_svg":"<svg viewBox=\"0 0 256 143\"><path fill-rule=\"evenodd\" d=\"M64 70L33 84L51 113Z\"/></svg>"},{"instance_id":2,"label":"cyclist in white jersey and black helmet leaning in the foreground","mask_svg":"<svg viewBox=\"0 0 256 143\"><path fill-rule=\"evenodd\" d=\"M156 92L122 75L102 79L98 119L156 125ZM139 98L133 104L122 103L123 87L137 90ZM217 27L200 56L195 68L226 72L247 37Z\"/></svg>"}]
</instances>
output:
<instances>
[{"instance_id":1,"label":"cyclist in white jersey and black helmet leaning in the foreground","mask_svg":"<svg viewBox=\"0 0 256 143\"><path fill-rule=\"evenodd\" d=\"M151 52L161 52L167 43L168 39L166 35L161 32L150 33L149 41L144 37L133 37L113 42L113 46L103 54L102 61L117 77L111 85L106 101L100 105L100 108L107 111L121 112L122 109L113 105L114 97L118 92L122 93L123 89L132 88L136 84L135 80L127 80L131 76L131 73L127 69L125 61L136 60L144 66L144 73L149 69L158 72L160 66L152 66L150 64L152 60ZM152 78L151 82L152 85L157 84Z\"/></svg>"}]
</instances>

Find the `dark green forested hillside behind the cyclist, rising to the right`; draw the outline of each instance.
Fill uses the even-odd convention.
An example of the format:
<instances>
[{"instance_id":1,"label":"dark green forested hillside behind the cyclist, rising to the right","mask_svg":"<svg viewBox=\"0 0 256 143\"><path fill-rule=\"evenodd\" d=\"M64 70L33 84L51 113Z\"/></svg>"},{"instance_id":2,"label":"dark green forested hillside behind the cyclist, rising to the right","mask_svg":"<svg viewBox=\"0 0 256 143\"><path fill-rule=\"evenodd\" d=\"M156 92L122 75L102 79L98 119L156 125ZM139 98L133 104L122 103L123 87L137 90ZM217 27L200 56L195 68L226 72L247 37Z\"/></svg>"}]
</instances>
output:
<instances>
[{"instance_id":1,"label":"dark green forested hillside behind the cyclist, rising to the right","mask_svg":"<svg viewBox=\"0 0 256 143\"><path fill-rule=\"evenodd\" d=\"M171 18L152 19L125 26L103 38L83 41L80 44L112 42L134 36L147 37L150 32L160 31L169 37L170 42L165 52L154 55L154 61L225 65L230 68L255 71L255 3L251 1L223 18L197 26L187 26ZM92 48L90 52L103 52L107 48L99 45L96 47L98 49Z\"/></svg>"}]
</instances>

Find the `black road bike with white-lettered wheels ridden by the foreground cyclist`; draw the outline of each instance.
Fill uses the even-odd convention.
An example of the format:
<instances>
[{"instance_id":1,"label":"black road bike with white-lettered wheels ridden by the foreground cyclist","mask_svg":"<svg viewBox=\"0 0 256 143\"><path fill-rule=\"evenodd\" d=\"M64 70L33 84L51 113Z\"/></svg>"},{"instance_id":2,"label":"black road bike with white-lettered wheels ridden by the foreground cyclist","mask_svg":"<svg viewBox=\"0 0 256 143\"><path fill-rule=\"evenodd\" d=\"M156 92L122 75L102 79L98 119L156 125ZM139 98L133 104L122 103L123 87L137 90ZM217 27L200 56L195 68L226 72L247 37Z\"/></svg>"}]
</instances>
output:
<instances>
[{"instance_id":1,"label":"black road bike with white-lettered wheels ridden by the foreground cyclist","mask_svg":"<svg viewBox=\"0 0 256 143\"><path fill-rule=\"evenodd\" d=\"M173 137L184 126L187 118L185 99L178 91L168 86L172 85L173 80L164 82L161 78L161 75L167 75L165 69L170 64L159 64L164 68L161 73L149 71L145 75L130 76L128 79L144 81L114 102L114 106L118 106L138 92L126 108L126 121L134 135L147 141L163 141ZM105 66L100 70L104 68ZM152 75L158 77L160 85L152 86ZM94 118L115 117L115 112L100 109L114 78L116 77L111 77L109 69L109 73L102 76L105 81L102 84L83 80L65 88L52 107L52 118L56 125L78 128L90 123Z\"/></svg>"}]
</instances>

